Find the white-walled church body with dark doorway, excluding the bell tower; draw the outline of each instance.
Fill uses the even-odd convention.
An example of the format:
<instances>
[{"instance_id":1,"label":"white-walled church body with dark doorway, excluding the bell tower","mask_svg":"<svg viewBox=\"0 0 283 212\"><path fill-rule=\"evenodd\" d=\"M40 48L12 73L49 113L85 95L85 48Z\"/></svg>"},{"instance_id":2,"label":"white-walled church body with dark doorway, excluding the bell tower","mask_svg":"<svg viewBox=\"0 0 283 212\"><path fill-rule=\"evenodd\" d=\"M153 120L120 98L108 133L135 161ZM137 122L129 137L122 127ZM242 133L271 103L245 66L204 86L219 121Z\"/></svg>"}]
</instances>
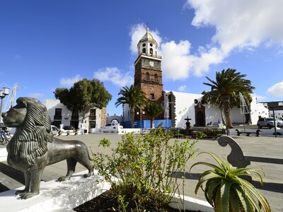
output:
<instances>
[{"instance_id":1,"label":"white-walled church body with dark doorway, excluding the bell tower","mask_svg":"<svg viewBox=\"0 0 283 212\"><path fill-rule=\"evenodd\" d=\"M207 126L222 122L221 111L214 105L203 104L202 94L181 93L175 91L169 93L170 118L172 126L185 127L185 118L189 117L192 126ZM239 107L231 109L233 124L257 124L258 117L268 117L268 109L262 103L258 103L253 97L250 102L250 113L241 114ZM225 117L224 117L225 119Z\"/></svg>"}]
</instances>

